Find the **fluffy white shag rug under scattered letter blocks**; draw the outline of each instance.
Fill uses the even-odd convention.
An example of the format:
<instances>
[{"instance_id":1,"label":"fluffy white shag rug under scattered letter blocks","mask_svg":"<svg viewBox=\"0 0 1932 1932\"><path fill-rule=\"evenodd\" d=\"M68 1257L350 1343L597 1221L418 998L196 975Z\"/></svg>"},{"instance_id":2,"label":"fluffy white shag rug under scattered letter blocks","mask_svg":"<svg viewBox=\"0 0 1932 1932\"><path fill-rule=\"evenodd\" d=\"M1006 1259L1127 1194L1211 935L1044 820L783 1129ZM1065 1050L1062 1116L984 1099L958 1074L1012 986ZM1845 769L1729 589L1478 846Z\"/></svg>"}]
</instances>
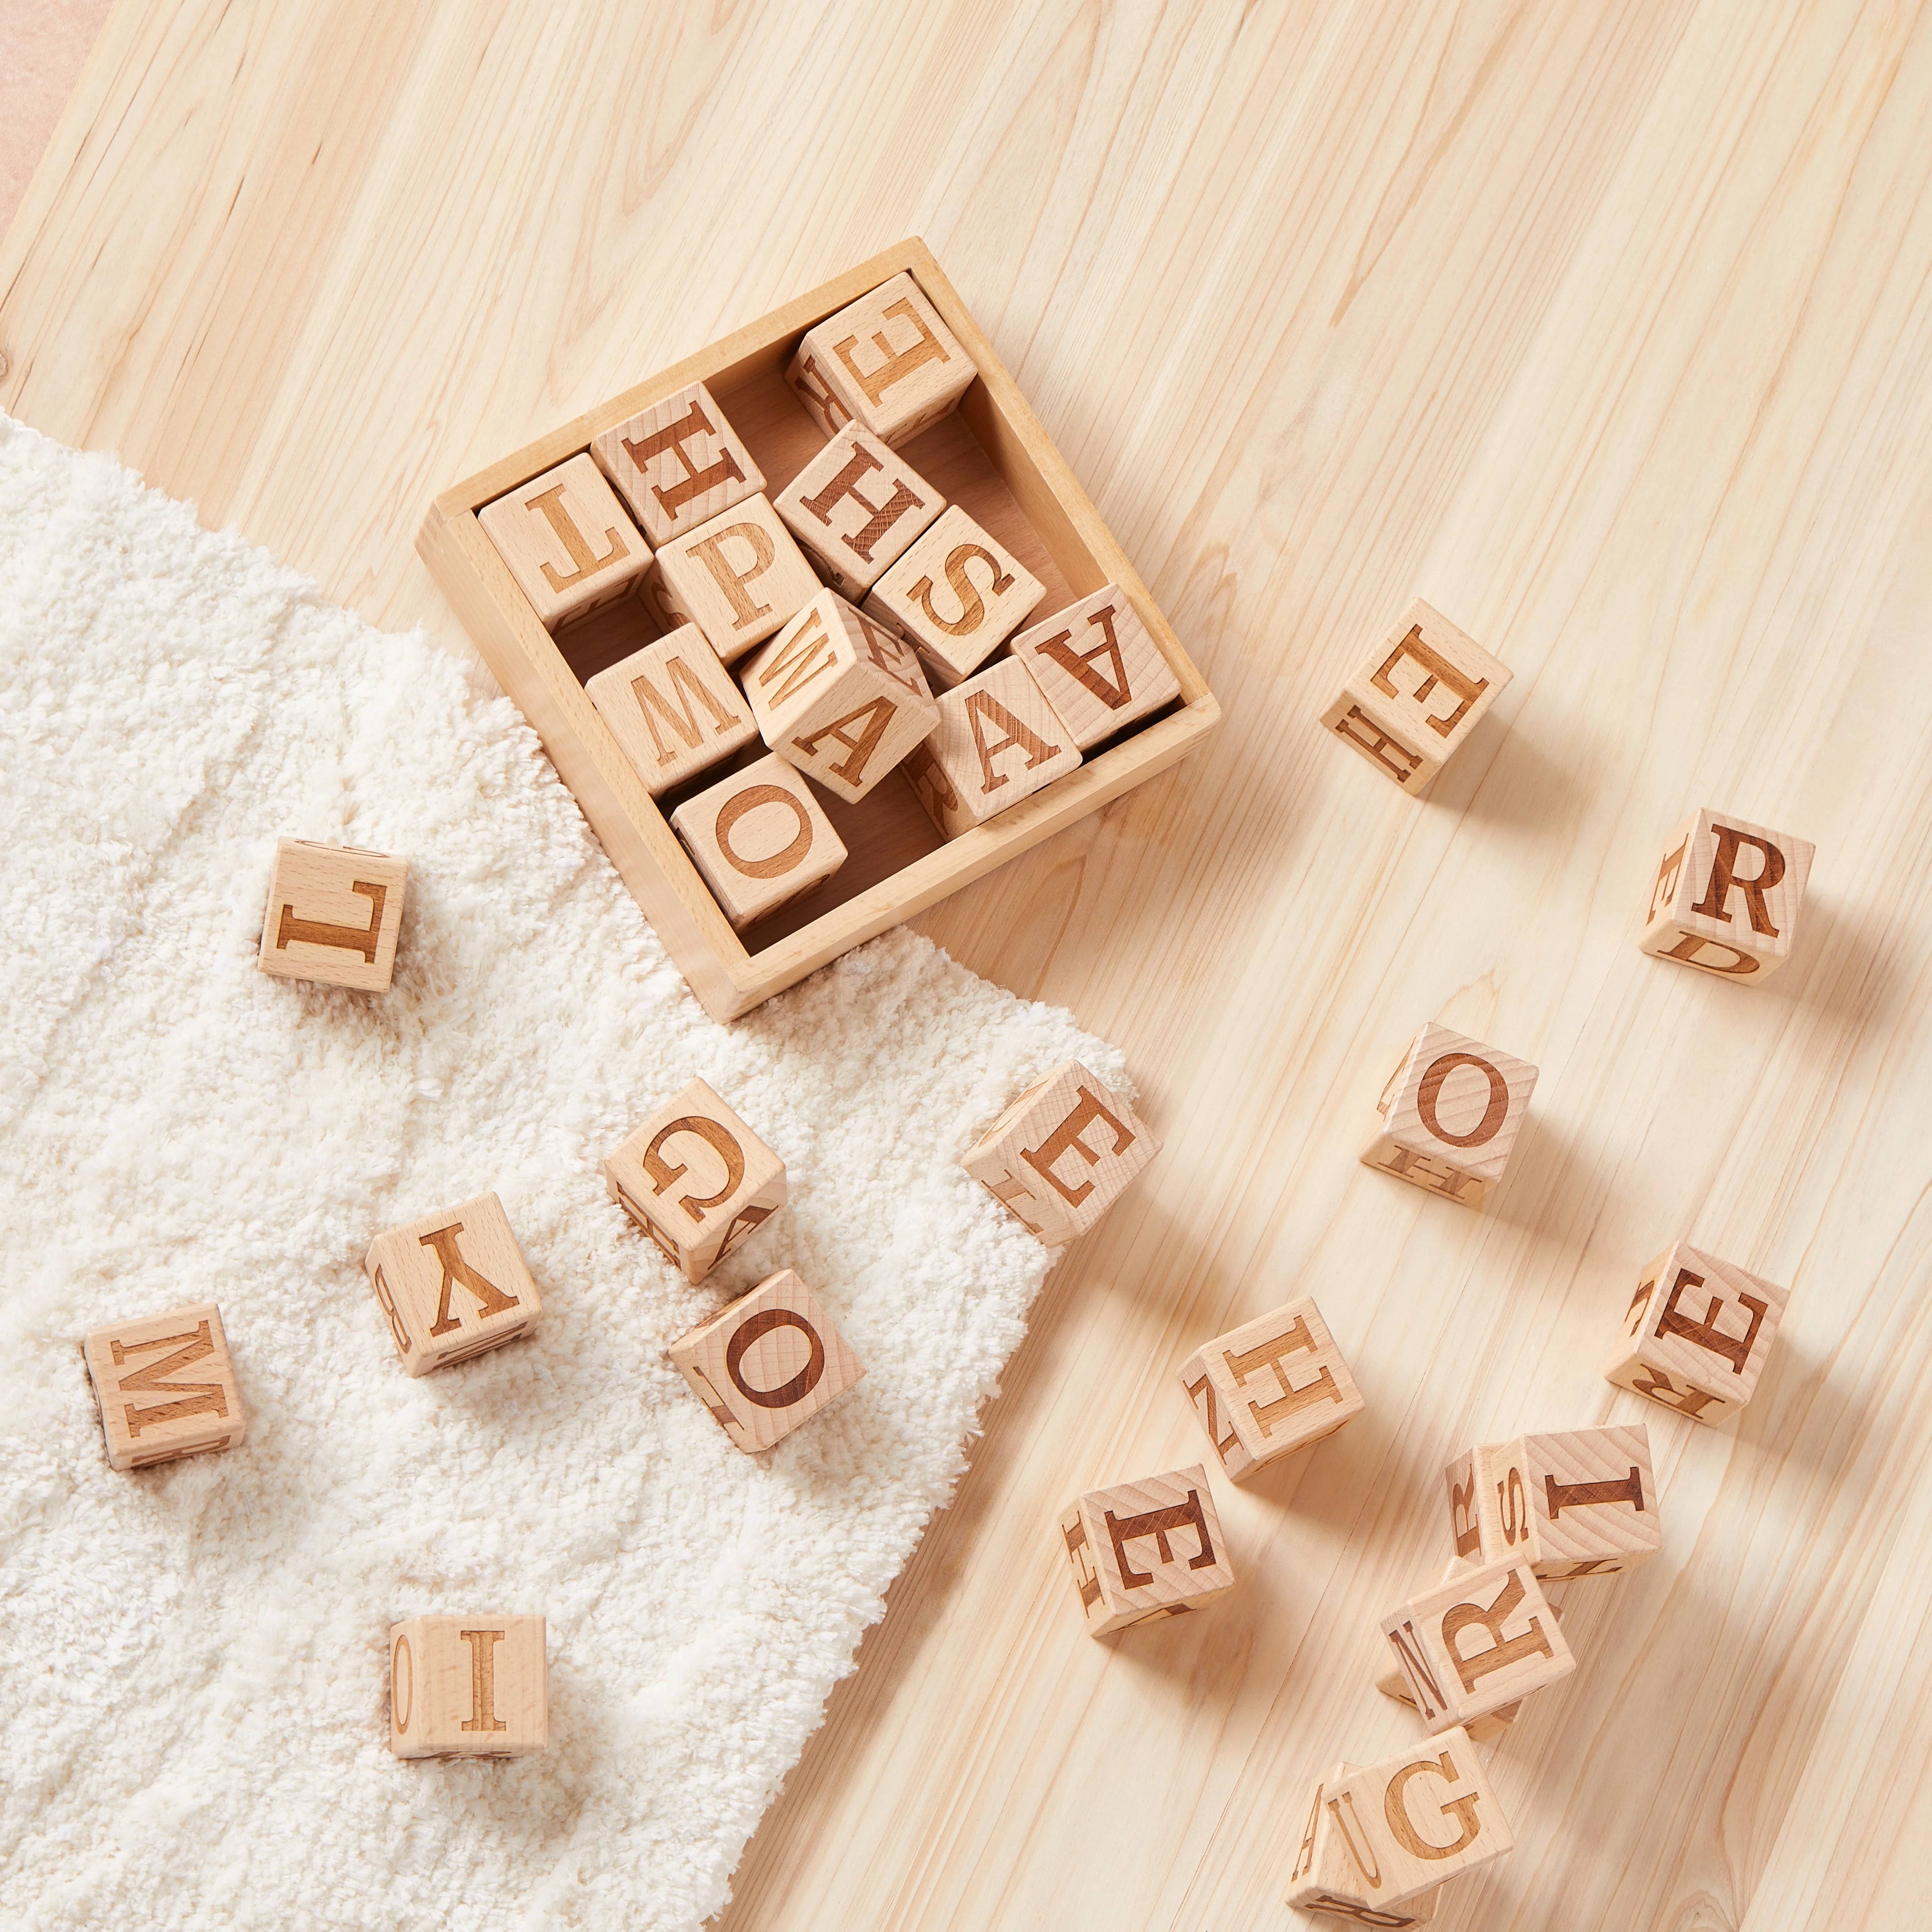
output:
<instances>
[{"instance_id":1,"label":"fluffy white shag rug under scattered letter blocks","mask_svg":"<svg viewBox=\"0 0 1932 1932\"><path fill-rule=\"evenodd\" d=\"M696 1926L1045 1275L958 1153L1121 1057L902 931L713 1024L504 699L6 417L0 765L0 1924ZM280 833L408 858L386 995L255 968ZM703 1289L599 1173L692 1074L792 1180ZM412 1381L363 1248L485 1188L543 1321ZM784 1264L867 1376L752 1459L661 1350ZM247 1439L116 1476L81 1333L195 1300ZM471 1609L551 1750L392 1758Z\"/></svg>"}]
</instances>

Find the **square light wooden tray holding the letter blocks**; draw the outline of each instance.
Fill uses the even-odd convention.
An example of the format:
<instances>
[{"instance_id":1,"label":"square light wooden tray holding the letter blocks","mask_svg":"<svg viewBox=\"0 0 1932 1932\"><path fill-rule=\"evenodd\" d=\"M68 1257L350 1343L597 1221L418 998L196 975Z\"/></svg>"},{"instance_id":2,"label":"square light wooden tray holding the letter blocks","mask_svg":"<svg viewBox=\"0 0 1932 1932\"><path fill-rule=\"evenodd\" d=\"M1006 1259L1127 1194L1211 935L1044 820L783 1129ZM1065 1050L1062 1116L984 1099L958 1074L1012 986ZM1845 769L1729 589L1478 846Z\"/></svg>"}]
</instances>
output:
<instances>
[{"instance_id":1,"label":"square light wooden tray holding the letter blocks","mask_svg":"<svg viewBox=\"0 0 1932 1932\"><path fill-rule=\"evenodd\" d=\"M587 450L601 431L697 381L711 386L763 468L767 493L777 497L825 440L784 386L784 365L798 338L900 270L912 272L980 369L956 413L908 442L906 460L949 500L964 504L1047 585L1030 624L1107 582L1119 583L1173 665L1180 701L1090 755L1078 771L952 840L941 840L898 773L860 806L840 804L821 790L817 796L850 858L825 885L740 935L583 690L585 678L659 634L645 605L626 599L553 638L477 524L477 510ZM1121 545L918 240L773 309L444 491L423 520L417 551L504 692L535 726L667 951L719 1020L748 1012L850 947L923 912L1165 771L1194 750L1221 715Z\"/></svg>"}]
</instances>

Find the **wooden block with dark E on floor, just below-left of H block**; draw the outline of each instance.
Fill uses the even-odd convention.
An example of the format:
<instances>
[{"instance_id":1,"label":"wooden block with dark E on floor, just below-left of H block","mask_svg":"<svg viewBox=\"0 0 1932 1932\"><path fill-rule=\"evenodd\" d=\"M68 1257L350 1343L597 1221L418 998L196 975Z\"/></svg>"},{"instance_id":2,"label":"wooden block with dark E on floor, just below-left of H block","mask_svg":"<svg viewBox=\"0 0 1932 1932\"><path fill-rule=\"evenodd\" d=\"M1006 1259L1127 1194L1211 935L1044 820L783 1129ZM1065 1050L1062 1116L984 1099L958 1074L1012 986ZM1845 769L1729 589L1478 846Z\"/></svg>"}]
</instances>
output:
<instances>
[{"instance_id":1,"label":"wooden block with dark E on floor, just below-left of H block","mask_svg":"<svg viewBox=\"0 0 1932 1932\"><path fill-rule=\"evenodd\" d=\"M1061 1517L1088 1636L1202 1609L1235 1586L1208 1470L1088 1490Z\"/></svg>"}]
</instances>

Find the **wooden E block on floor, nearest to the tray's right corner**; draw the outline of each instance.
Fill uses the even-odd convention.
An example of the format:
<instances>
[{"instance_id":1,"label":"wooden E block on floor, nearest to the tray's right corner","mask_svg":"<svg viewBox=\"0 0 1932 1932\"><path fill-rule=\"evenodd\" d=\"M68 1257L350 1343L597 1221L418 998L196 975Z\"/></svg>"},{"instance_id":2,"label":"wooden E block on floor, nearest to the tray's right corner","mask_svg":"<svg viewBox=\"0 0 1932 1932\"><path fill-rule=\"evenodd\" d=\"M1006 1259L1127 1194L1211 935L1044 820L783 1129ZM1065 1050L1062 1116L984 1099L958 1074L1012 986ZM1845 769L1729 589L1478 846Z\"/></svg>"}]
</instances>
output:
<instances>
[{"instance_id":1,"label":"wooden E block on floor, nearest to the tray's right corner","mask_svg":"<svg viewBox=\"0 0 1932 1932\"><path fill-rule=\"evenodd\" d=\"M1405 792L1420 794L1505 684L1507 665L1416 599L1321 723Z\"/></svg>"}]
</instances>

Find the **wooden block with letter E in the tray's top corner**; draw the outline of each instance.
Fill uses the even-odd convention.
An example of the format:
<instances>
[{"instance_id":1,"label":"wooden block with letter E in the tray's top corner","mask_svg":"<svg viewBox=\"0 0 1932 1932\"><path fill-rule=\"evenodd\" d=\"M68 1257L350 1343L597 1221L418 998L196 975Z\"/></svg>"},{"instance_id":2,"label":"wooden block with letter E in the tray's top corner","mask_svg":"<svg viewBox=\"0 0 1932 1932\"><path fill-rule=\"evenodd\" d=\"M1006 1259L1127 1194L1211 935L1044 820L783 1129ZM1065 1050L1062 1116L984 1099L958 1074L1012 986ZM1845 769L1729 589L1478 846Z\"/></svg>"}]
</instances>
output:
<instances>
[{"instance_id":1,"label":"wooden block with letter E in the tray's top corner","mask_svg":"<svg viewBox=\"0 0 1932 1932\"><path fill-rule=\"evenodd\" d=\"M920 284L895 274L808 328L784 381L827 437L858 421L896 448L951 415L978 373Z\"/></svg>"}]
</instances>

